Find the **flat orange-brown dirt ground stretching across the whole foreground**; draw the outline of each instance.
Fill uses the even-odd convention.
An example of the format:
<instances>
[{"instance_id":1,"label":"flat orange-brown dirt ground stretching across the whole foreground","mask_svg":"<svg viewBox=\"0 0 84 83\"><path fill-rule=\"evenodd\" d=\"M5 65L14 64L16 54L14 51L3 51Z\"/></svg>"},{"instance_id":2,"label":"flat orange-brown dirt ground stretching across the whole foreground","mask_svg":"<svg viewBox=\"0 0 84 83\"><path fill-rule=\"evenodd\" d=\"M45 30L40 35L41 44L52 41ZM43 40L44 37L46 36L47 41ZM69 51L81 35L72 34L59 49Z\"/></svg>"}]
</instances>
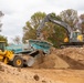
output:
<instances>
[{"instance_id":1,"label":"flat orange-brown dirt ground stretching across the whole foreground","mask_svg":"<svg viewBox=\"0 0 84 83\"><path fill-rule=\"evenodd\" d=\"M84 83L83 70L18 69L0 64L0 83Z\"/></svg>"}]
</instances>

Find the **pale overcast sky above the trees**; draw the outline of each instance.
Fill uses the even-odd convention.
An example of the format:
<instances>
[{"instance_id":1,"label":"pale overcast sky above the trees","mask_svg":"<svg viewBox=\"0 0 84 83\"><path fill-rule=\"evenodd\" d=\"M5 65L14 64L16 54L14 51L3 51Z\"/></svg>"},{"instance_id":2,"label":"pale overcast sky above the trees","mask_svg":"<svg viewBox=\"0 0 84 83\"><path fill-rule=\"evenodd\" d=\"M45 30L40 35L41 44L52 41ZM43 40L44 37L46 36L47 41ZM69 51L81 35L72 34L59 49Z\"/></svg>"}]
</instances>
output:
<instances>
[{"instance_id":1,"label":"pale overcast sky above the trees","mask_svg":"<svg viewBox=\"0 0 84 83\"><path fill-rule=\"evenodd\" d=\"M22 38L22 28L34 12L59 14L66 9L74 9L80 15L84 13L84 0L0 0L0 11L4 13L0 34L12 42L15 35Z\"/></svg>"}]
</instances>

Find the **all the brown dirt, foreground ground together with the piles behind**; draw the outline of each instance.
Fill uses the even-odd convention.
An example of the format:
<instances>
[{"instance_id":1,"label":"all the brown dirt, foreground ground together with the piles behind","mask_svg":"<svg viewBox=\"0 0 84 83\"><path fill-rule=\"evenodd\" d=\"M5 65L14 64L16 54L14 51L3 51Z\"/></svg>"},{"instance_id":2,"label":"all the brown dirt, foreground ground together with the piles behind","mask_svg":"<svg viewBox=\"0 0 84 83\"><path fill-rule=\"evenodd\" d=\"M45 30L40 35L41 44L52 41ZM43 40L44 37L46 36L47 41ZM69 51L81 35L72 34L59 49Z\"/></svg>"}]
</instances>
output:
<instances>
[{"instance_id":1,"label":"all the brown dirt, foreground ground together with the piles behind","mask_svg":"<svg viewBox=\"0 0 84 83\"><path fill-rule=\"evenodd\" d=\"M84 83L84 48L39 55L32 68L13 68L0 62L0 83Z\"/></svg>"}]
</instances>

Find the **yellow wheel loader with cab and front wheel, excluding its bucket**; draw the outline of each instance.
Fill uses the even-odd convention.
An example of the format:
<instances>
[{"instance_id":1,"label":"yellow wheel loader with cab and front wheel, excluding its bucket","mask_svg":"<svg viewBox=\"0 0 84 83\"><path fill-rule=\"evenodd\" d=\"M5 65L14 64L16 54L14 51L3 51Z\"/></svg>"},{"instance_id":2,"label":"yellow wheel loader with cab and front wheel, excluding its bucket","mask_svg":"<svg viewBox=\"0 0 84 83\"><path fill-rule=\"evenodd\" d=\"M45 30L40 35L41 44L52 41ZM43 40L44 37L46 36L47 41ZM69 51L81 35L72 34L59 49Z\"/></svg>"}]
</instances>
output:
<instances>
[{"instance_id":1,"label":"yellow wheel loader with cab and front wheel, excluding its bucket","mask_svg":"<svg viewBox=\"0 0 84 83\"><path fill-rule=\"evenodd\" d=\"M7 51L4 41L0 41L0 61L18 68L23 66L23 59L21 55L14 54L12 51Z\"/></svg>"}]
</instances>

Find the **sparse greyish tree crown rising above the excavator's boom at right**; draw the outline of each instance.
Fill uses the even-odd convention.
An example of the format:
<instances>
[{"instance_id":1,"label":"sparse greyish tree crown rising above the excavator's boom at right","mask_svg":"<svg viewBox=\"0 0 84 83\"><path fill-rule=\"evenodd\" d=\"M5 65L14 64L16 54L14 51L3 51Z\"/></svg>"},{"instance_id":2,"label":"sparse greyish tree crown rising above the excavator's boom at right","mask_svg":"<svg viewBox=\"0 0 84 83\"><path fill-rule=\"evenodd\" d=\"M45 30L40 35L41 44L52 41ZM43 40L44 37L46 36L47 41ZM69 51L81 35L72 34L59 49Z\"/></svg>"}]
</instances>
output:
<instances>
[{"instance_id":1,"label":"sparse greyish tree crown rising above the excavator's boom at right","mask_svg":"<svg viewBox=\"0 0 84 83\"><path fill-rule=\"evenodd\" d=\"M75 21L78 20L77 11L73 10L73 9L67 9L67 10L62 11L60 13L60 17L62 18L63 21L69 23L71 25L71 28L74 28Z\"/></svg>"}]
</instances>

